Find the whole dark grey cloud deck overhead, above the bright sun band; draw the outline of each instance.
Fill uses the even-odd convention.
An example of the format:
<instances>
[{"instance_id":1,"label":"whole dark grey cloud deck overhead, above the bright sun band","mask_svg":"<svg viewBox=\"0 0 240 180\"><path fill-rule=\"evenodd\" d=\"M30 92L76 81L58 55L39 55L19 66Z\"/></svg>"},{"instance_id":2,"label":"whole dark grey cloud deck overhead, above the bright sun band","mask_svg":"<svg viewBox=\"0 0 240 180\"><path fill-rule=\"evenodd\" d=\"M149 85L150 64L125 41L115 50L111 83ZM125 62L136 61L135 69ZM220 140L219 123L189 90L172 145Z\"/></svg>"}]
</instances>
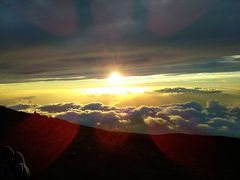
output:
<instances>
[{"instance_id":1,"label":"whole dark grey cloud deck overhead, above the bright sun band","mask_svg":"<svg viewBox=\"0 0 240 180\"><path fill-rule=\"evenodd\" d=\"M240 69L238 0L64 2L0 3L0 83Z\"/></svg>"}]
</instances>

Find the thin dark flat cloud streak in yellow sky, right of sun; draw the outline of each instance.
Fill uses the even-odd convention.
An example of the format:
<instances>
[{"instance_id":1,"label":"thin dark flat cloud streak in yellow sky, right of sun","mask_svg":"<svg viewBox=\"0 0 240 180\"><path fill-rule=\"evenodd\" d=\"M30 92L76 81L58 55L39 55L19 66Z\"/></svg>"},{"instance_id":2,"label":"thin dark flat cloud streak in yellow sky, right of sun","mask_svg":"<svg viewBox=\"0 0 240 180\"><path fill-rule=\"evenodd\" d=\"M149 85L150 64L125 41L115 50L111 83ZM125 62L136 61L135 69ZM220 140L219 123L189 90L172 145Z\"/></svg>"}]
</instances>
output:
<instances>
[{"instance_id":1,"label":"thin dark flat cloud streak in yellow sky, right of sun","mask_svg":"<svg viewBox=\"0 0 240 180\"><path fill-rule=\"evenodd\" d=\"M192 94L218 94L223 91L217 89L202 89L202 88L164 88L155 90L157 93L192 93Z\"/></svg>"}]
</instances>

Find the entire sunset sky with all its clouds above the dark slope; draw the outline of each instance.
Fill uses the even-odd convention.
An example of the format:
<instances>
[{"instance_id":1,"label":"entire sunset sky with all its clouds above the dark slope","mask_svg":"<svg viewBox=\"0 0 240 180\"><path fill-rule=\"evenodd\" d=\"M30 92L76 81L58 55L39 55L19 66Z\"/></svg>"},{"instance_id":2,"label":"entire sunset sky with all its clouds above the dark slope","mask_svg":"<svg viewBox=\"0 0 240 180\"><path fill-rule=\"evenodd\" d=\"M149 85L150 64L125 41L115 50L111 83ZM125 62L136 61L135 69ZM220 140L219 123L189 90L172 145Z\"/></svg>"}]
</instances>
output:
<instances>
[{"instance_id":1,"label":"entire sunset sky with all its clouds above the dark slope","mask_svg":"<svg viewBox=\"0 0 240 180\"><path fill-rule=\"evenodd\" d=\"M0 104L110 130L240 137L239 8L238 0L0 0ZM146 112L133 118L139 108Z\"/></svg>"}]
</instances>

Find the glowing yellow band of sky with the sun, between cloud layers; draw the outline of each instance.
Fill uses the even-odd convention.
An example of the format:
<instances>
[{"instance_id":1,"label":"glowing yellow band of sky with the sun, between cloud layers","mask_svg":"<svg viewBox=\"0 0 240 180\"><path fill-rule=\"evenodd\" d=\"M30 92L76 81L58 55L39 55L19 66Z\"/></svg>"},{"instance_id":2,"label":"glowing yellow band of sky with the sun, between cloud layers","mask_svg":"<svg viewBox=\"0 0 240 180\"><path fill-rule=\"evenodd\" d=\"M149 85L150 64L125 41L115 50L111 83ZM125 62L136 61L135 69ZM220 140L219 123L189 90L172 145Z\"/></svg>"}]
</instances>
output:
<instances>
[{"instance_id":1,"label":"glowing yellow band of sky with the sun, between cloud layers","mask_svg":"<svg viewBox=\"0 0 240 180\"><path fill-rule=\"evenodd\" d=\"M226 93L239 95L239 72L226 73L195 73L185 75L150 75L150 76L124 76L120 73L112 76L110 73L103 79L82 80L55 80L25 83L0 84L0 104L14 103L55 103L55 102L103 102L118 105L158 105L159 103L180 102L172 99L174 96L154 94L153 91L162 88L201 87L205 89L219 89ZM149 93L150 92L150 93ZM219 94L216 99L222 101L224 94ZM140 96L142 98L140 98ZM216 95L217 96L217 95ZM48 98L46 98L48 97ZM159 97L159 98L157 98ZM188 95L188 100L193 99ZM215 96L214 96L215 97ZM234 102L236 97L224 102ZM235 100L236 99L236 100ZM144 102L143 102L144 101ZM231 103L233 104L233 103Z\"/></svg>"}]
</instances>

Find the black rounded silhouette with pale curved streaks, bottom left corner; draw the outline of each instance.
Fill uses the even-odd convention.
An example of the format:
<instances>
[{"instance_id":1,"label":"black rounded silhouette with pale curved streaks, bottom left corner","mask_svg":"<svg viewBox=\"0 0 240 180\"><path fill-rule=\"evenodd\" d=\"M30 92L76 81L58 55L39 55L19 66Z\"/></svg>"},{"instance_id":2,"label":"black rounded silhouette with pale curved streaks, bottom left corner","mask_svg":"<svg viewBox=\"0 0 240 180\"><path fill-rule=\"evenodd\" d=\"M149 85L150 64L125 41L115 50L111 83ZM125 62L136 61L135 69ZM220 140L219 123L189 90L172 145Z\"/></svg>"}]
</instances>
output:
<instances>
[{"instance_id":1,"label":"black rounded silhouette with pale curved streaks, bottom left corner","mask_svg":"<svg viewBox=\"0 0 240 180\"><path fill-rule=\"evenodd\" d=\"M23 155L10 146L0 148L0 179L25 180L30 176L30 170Z\"/></svg>"}]
</instances>

